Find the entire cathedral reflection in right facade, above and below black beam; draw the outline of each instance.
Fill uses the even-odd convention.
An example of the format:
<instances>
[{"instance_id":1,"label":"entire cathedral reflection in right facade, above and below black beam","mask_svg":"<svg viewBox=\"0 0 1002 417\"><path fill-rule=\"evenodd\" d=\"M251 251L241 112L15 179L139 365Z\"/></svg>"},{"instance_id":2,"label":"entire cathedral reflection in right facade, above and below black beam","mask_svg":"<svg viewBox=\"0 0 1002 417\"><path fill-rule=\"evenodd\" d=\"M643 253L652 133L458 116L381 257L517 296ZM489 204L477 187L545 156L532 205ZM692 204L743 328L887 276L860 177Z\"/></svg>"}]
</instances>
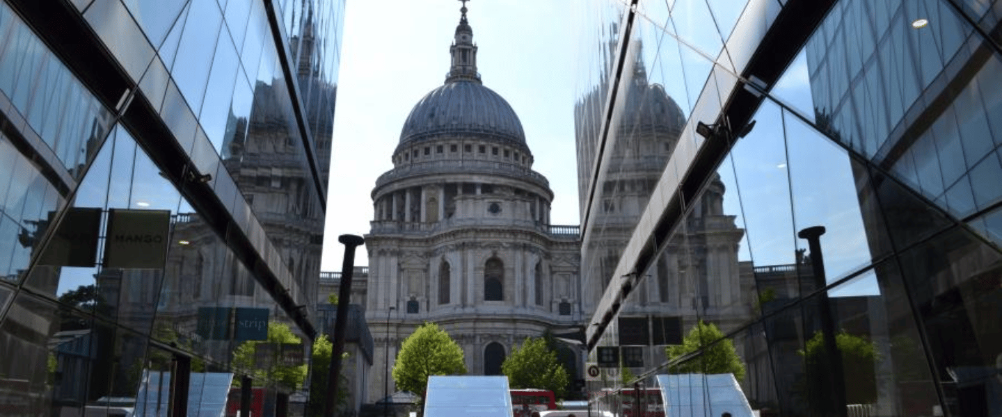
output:
<instances>
[{"instance_id":1,"label":"entire cathedral reflection in right facade, above and below black beam","mask_svg":"<svg viewBox=\"0 0 1002 417\"><path fill-rule=\"evenodd\" d=\"M609 123L604 150L601 142L601 104L608 86L598 85L575 106L578 177L582 213L587 213L588 240L583 242L581 269L585 309L593 311L614 276L622 249L654 192L674 151L685 114L663 86L651 83L641 60L639 41L633 42L624 76L616 94L617 109ZM604 78L604 77L603 77ZM596 173L597 171L597 173ZM713 176L702 196L688 202L679 233L664 244L639 288L631 292L618 317L619 340L633 345L644 363L664 360L663 345L679 344L697 318L712 321L724 331L750 318L744 294L750 290L750 271L737 261L743 231L735 216L723 213L726 189ZM589 202L590 200L590 202ZM588 205L590 204L590 211ZM648 349L639 346L651 346ZM624 356L632 353L623 352ZM628 358L628 360L639 358ZM624 359L626 360L626 359Z\"/></svg>"}]
</instances>

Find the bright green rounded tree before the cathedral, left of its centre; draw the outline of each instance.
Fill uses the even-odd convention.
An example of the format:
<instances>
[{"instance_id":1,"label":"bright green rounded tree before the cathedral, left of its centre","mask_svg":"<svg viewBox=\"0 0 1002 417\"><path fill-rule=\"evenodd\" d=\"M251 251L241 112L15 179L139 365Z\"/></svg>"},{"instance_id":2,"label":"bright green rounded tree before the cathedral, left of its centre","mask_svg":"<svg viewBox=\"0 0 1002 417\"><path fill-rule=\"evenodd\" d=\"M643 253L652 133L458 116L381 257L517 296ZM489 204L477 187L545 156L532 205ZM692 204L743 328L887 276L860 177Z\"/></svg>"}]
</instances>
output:
<instances>
[{"instance_id":1,"label":"bright green rounded tree before the cathedral, left of its centre","mask_svg":"<svg viewBox=\"0 0 1002 417\"><path fill-rule=\"evenodd\" d=\"M424 397L428 377L465 373L463 349L445 330L426 322L404 340L393 366L393 381L398 389Z\"/></svg>"}]
</instances>

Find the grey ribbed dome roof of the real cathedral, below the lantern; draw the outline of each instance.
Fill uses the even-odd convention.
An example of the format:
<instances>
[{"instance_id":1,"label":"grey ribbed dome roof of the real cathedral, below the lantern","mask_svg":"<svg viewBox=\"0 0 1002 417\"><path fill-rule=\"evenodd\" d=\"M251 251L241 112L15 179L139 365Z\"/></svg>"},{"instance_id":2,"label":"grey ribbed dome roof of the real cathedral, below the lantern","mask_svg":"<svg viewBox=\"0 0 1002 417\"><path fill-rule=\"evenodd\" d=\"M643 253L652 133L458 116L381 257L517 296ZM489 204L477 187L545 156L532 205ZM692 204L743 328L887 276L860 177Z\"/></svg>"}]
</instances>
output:
<instances>
[{"instance_id":1,"label":"grey ribbed dome roof of the real cathedral, below the lantern","mask_svg":"<svg viewBox=\"0 0 1002 417\"><path fill-rule=\"evenodd\" d=\"M407 116L400 143L445 135L525 143L522 123L508 102L473 80L450 81L425 95Z\"/></svg>"}]
</instances>

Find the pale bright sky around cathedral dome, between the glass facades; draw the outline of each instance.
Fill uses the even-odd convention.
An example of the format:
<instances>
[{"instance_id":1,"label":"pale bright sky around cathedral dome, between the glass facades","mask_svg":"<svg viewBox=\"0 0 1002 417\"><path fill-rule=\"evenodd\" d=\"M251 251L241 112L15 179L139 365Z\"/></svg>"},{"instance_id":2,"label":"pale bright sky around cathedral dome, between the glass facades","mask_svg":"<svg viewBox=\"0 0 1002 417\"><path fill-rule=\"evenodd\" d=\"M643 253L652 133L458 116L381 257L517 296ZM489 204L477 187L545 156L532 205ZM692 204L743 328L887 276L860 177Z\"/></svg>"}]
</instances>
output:
<instances>
[{"instance_id":1,"label":"pale bright sky around cathedral dome, between the glass facades","mask_svg":"<svg viewBox=\"0 0 1002 417\"><path fill-rule=\"evenodd\" d=\"M484 85L518 114L550 181L554 224L578 224L574 151L574 81L579 45L573 0L470 1L467 18L479 47ZM442 85L459 1L349 1L335 111L323 271L340 271L339 235L369 231L370 192L390 157L411 108ZM368 265L365 248L356 265Z\"/></svg>"}]
</instances>

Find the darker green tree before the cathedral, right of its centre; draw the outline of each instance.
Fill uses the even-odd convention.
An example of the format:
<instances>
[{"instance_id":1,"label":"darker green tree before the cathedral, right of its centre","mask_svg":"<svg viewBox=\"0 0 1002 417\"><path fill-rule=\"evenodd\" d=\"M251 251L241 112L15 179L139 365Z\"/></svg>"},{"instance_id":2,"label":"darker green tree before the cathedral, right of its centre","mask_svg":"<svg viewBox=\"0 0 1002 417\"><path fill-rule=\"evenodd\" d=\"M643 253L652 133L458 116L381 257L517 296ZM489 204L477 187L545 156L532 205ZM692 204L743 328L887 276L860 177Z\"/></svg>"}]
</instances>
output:
<instances>
[{"instance_id":1,"label":"darker green tree before the cathedral, right of its centre","mask_svg":"<svg viewBox=\"0 0 1002 417\"><path fill-rule=\"evenodd\" d=\"M511 388L548 389L557 398L564 397L570 382L557 352L547 346L544 338L528 337L515 345L501 364L501 372L508 376Z\"/></svg>"}]
</instances>

